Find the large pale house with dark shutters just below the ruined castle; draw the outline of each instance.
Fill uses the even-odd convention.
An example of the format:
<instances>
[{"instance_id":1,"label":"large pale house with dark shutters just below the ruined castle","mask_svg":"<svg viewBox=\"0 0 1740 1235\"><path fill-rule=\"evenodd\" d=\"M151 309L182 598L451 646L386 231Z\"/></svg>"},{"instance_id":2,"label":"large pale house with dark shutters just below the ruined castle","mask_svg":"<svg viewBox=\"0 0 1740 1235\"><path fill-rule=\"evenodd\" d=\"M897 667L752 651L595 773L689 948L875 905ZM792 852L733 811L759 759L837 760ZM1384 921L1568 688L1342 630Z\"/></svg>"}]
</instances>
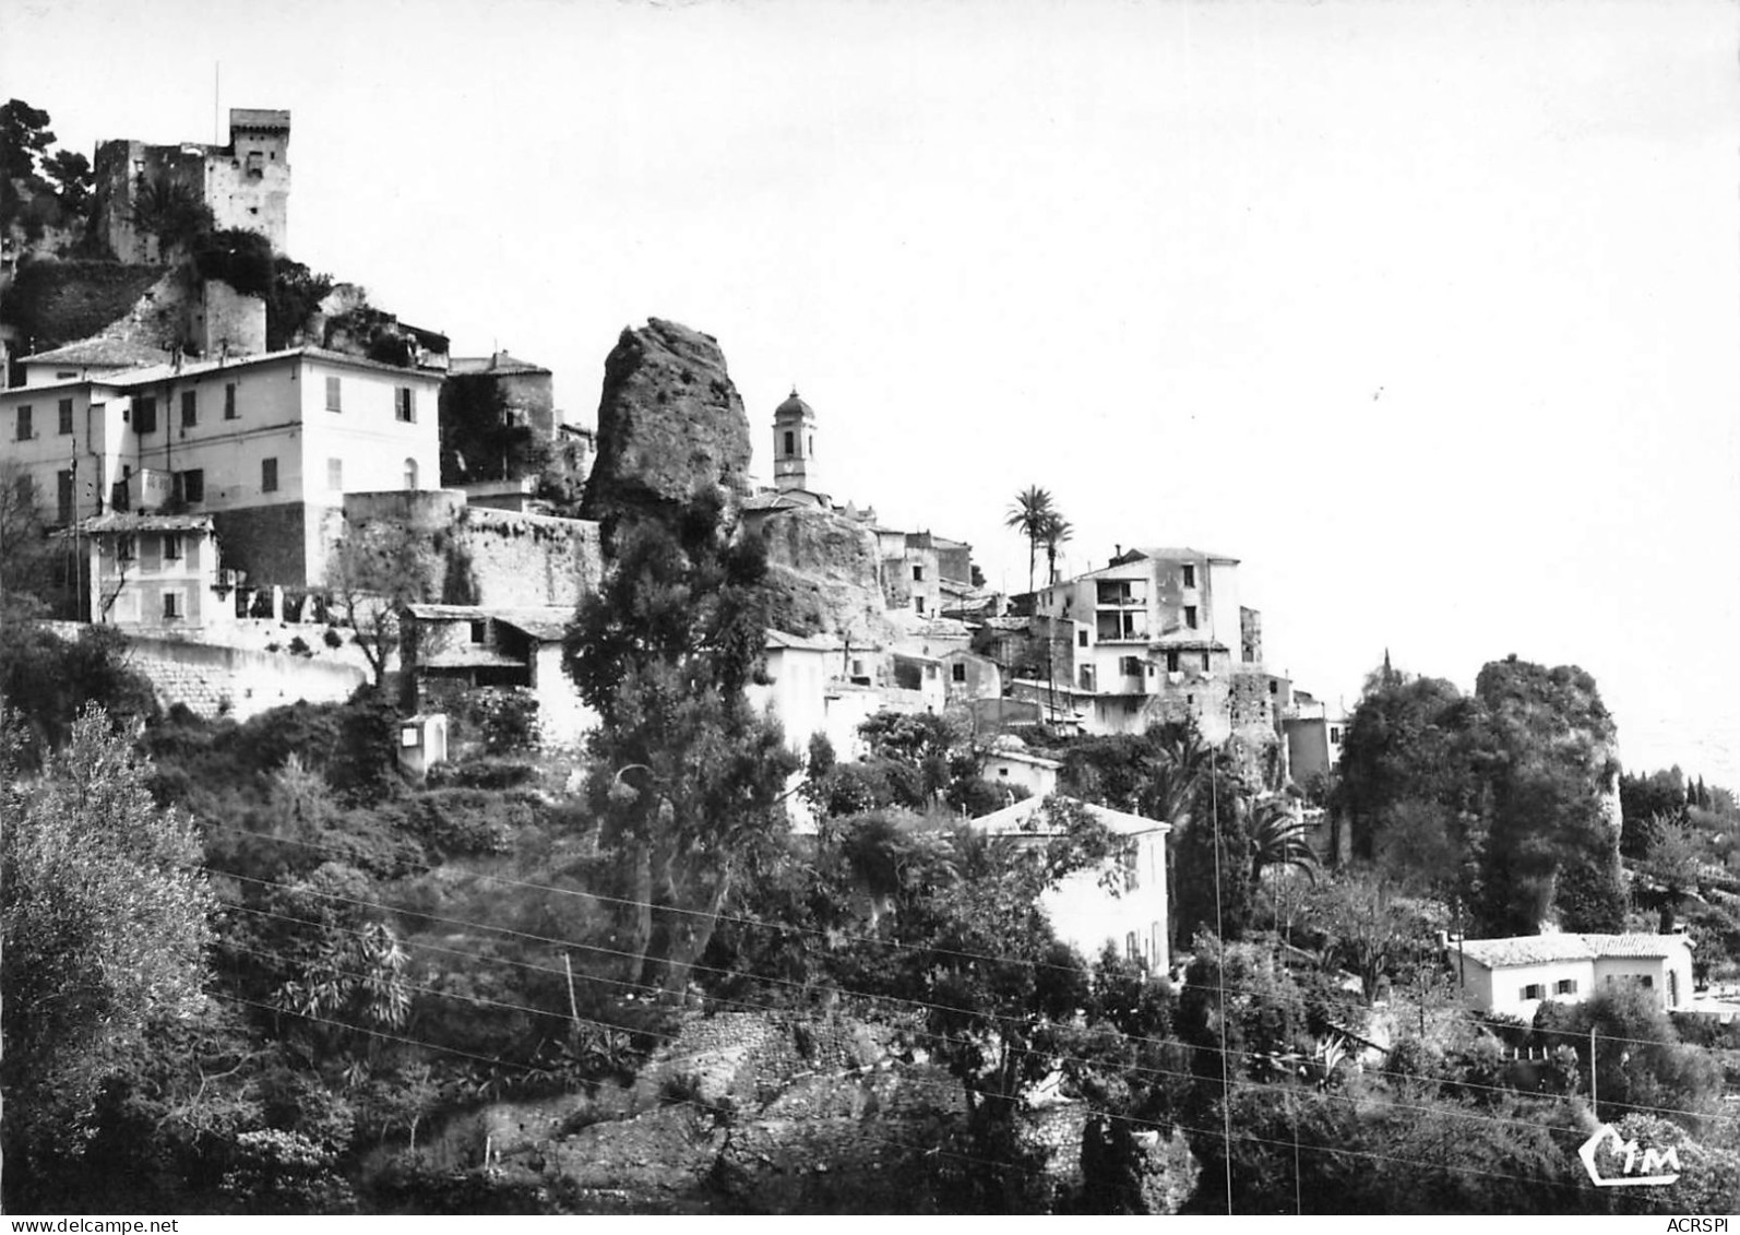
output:
<instances>
[{"instance_id":1,"label":"large pale house with dark shutters just below the ruined castle","mask_svg":"<svg viewBox=\"0 0 1740 1235\"><path fill-rule=\"evenodd\" d=\"M0 391L0 463L50 524L209 517L251 586L317 586L346 494L440 487L442 374L324 348L104 364L26 357Z\"/></svg>"}]
</instances>

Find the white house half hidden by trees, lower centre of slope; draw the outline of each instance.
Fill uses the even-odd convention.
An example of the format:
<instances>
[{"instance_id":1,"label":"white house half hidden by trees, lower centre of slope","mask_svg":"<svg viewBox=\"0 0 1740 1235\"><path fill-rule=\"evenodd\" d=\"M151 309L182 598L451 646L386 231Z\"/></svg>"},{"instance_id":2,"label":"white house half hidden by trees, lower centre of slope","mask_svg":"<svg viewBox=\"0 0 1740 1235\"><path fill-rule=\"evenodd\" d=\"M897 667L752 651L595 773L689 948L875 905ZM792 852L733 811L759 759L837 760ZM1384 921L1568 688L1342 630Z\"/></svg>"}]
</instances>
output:
<instances>
[{"instance_id":1,"label":"white house half hidden by trees, lower centre of slope","mask_svg":"<svg viewBox=\"0 0 1740 1235\"><path fill-rule=\"evenodd\" d=\"M1046 818L1046 802L1079 805L1124 840L1122 854L1101 866L1067 875L1044 894L1041 903L1051 918L1051 929L1089 962L1112 943L1124 957L1145 960L1148 972L1164 974L1171 967L1166 903L1166 833L1173 830L1171 824L1075 798L1049 797L1025 798L980 816L967 826L1046 844L1058 835ZM1105 878L1119 868L1122 878Z\"/></svg>"}]
</instances>

